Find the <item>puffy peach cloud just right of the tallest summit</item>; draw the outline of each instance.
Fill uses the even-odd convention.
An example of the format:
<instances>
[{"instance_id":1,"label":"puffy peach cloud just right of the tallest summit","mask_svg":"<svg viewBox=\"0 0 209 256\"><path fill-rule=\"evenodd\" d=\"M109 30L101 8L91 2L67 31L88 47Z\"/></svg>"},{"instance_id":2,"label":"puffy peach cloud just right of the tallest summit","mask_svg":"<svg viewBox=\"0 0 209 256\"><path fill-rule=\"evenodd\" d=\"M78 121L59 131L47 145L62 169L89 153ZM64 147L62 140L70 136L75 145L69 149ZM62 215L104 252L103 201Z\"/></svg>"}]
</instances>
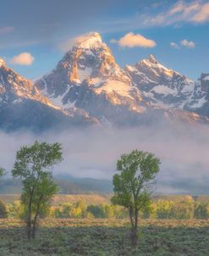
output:
<instances>
[{"instance_id":1,"label":"puffy peach cloud just right of the tallest summit","mask_svg":"<svg viewBox=\"0 0 209 256\"><path fill-rule=\"evenodd\" d=\"M112 39L111 42L117 41ZM157 44L145 36L129 32L118 40L118 45L121 47L155 47Z\"/></svg>"}]
</instances>

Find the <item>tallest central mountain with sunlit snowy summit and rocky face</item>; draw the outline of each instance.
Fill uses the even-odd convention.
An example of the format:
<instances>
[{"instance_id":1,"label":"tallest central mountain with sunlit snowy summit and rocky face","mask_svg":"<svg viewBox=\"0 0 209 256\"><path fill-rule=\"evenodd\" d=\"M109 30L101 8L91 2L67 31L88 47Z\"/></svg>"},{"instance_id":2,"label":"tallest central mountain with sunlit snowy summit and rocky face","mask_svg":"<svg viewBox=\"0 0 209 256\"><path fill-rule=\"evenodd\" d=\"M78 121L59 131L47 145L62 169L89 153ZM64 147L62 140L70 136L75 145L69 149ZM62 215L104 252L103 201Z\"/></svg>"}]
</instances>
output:
<instances>
[{"instance_id":1,"label":"tallest central mountain with sunlit snowy summit and rocky face","mask_svg":"<svg viewBox=\"0 0 209 256\"><path fill-rule=\"evenodd\" d=\"M85 109L106 125L136 119L145 110L140 90L132 86L126 72L98 33L83 36L65 54L57 67L37 88L52 103L65 109Z\"/></svg>"}]
</instances>

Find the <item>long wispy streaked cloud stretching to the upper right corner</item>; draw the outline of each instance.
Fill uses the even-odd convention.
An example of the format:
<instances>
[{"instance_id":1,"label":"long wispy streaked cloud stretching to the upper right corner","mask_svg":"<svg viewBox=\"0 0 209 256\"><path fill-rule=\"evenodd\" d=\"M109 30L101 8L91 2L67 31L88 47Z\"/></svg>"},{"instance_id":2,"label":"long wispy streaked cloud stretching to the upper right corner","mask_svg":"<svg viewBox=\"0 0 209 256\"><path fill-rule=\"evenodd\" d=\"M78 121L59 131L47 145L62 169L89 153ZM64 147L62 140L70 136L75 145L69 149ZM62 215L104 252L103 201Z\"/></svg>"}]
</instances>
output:
<instances>
[{"instance_id":1,"label":"long wispy streaked cloud stretching to the upper right corner","mask_svg":"<svg viewBox=\"0 0 209 256\"><path fill-rule=\"evenodd\" d=\"M206 3L207 2L207 3ZM162 7L163 3L163 7ZM141 13L125 19L109 20L105 32L136 31L147 27L171 25L179 28L184 24L198 25L209 21L208 0L179 0L153 3Z\"/></svg>"}]
</instances>

